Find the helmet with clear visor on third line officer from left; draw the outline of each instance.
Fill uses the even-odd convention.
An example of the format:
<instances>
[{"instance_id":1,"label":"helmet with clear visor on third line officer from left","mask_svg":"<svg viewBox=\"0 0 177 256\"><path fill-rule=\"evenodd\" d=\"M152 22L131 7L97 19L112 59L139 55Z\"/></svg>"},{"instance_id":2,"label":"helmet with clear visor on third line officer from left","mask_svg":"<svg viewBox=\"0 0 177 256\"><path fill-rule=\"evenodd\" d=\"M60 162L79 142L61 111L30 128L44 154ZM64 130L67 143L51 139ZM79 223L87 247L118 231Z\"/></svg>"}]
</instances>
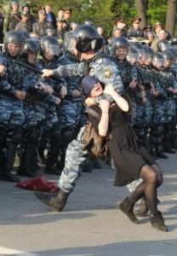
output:
<instances>
[{"instance_id":1,"label":"helmet with clear visor on third line officer from left","mask_svg":"<svg viewBox=\"0 0 177 256\"><path fill-rule=\"evenodd\" d=\"M58 56L60 53L59 42L56 38L51 36L44 36L40 39L40 46L42 54L50 52L51 54Z\"/></svg>"}]
</instances>

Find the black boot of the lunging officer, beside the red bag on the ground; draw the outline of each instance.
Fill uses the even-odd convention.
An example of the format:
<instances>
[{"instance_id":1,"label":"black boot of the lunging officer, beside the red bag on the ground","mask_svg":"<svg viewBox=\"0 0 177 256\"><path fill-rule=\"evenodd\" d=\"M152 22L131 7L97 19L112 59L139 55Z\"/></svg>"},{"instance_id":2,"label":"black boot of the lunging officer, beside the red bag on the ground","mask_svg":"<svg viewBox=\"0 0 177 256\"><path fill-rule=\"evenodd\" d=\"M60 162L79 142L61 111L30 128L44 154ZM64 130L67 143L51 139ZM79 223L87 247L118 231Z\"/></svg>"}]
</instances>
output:
<instances>
[{"instance_id":1,"label":"black boot of the lunging officer, beside the red bag on the ground","mask_svg":"<svg viewBox=\"0 0 177 256\"><path fill-rule=\"evenodd\" d=\"M36 191L34 194L38 200L42 201L45 205L52 207L57 212L61 212L63 210L69 196L69 193L62 191L61 189L55 193L43 193Z\"/></svg>"}]
</instances>

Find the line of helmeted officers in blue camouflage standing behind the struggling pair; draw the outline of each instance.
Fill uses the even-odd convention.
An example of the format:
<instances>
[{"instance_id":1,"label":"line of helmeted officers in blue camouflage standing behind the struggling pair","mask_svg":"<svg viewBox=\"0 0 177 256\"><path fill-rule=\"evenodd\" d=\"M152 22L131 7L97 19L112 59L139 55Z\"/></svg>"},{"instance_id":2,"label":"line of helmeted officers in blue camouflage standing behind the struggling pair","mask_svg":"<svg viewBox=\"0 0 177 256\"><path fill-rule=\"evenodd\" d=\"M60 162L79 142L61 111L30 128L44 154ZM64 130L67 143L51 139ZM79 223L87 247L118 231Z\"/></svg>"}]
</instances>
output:
<instances>
[{"instance_id":1,"label":"line of helmeted officers in blue camouflage standing behind the struggling pair","mask_svg":"<svg viewBox=\"0 0 177 256\"><path fill-rule=\"evenodd\" d=\"M44 172L60 174L65 166L66 148L86 121L82 78L48 79L40 71L78 63L73 40L67 38L61 50L57 39L50 36L35 41L19 31L6 34L0 55L1 180L20 180L12 172L17 153L18 176L36 177L43 164ZM174 154L177 148L177 46L160 42L159 48L163 52L154 54L150 47L137 42L130 45L121 37L110 45L100 44L97 52L110 55L120 71L140 142L155 157L167 159L164 152ZM111 72L107 68L105 76L110 78ZM90 156L88 163L100 167Z\"/></svg>"}]
</instances>

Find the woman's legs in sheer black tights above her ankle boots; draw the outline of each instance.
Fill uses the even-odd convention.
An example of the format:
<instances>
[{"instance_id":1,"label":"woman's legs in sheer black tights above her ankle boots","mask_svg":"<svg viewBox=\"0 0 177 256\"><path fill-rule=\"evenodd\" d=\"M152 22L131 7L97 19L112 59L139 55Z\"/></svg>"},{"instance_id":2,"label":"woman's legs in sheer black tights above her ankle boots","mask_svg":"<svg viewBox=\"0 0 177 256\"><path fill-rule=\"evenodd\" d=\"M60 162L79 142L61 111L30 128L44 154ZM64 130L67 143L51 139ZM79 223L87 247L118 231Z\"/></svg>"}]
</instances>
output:
<instances>
[{"instance_id":1,"label":"woman's legs in sheer black tights above her ankle boots","mask_svg":"<svg viewBox=\"0 0 177 256\"><path fill-rule=\"evenodd\" d=\"M143 166L140 177L144 180L129 196L134 203L140 198L146 198L146 203L151 213L157 212L157 187L163 183L163 175L157 166Z\"/></svg>"}]
</instances>

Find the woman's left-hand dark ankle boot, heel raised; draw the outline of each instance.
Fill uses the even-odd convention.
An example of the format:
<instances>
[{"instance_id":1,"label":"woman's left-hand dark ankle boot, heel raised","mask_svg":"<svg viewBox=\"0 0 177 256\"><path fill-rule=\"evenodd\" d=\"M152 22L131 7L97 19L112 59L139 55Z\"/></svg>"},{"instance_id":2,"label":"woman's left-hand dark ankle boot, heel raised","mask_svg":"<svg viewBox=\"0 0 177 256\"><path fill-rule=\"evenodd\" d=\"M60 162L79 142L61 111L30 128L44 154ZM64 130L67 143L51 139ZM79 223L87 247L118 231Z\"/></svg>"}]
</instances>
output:
<instances>
[{"instance_id":1,"label":"woman's left-hand dark ankle boot, heel raised","mask_svg":"<svg viewBox=\"0 0 177 256\"><path fill-rule=\"evenodd\" d=\"M127 215L127 217L134 223L140 224L138 218L134 216L134 202L130 201L128 197L126 197L119 205L119 209Z\"/></svg>"}]
</instances>

